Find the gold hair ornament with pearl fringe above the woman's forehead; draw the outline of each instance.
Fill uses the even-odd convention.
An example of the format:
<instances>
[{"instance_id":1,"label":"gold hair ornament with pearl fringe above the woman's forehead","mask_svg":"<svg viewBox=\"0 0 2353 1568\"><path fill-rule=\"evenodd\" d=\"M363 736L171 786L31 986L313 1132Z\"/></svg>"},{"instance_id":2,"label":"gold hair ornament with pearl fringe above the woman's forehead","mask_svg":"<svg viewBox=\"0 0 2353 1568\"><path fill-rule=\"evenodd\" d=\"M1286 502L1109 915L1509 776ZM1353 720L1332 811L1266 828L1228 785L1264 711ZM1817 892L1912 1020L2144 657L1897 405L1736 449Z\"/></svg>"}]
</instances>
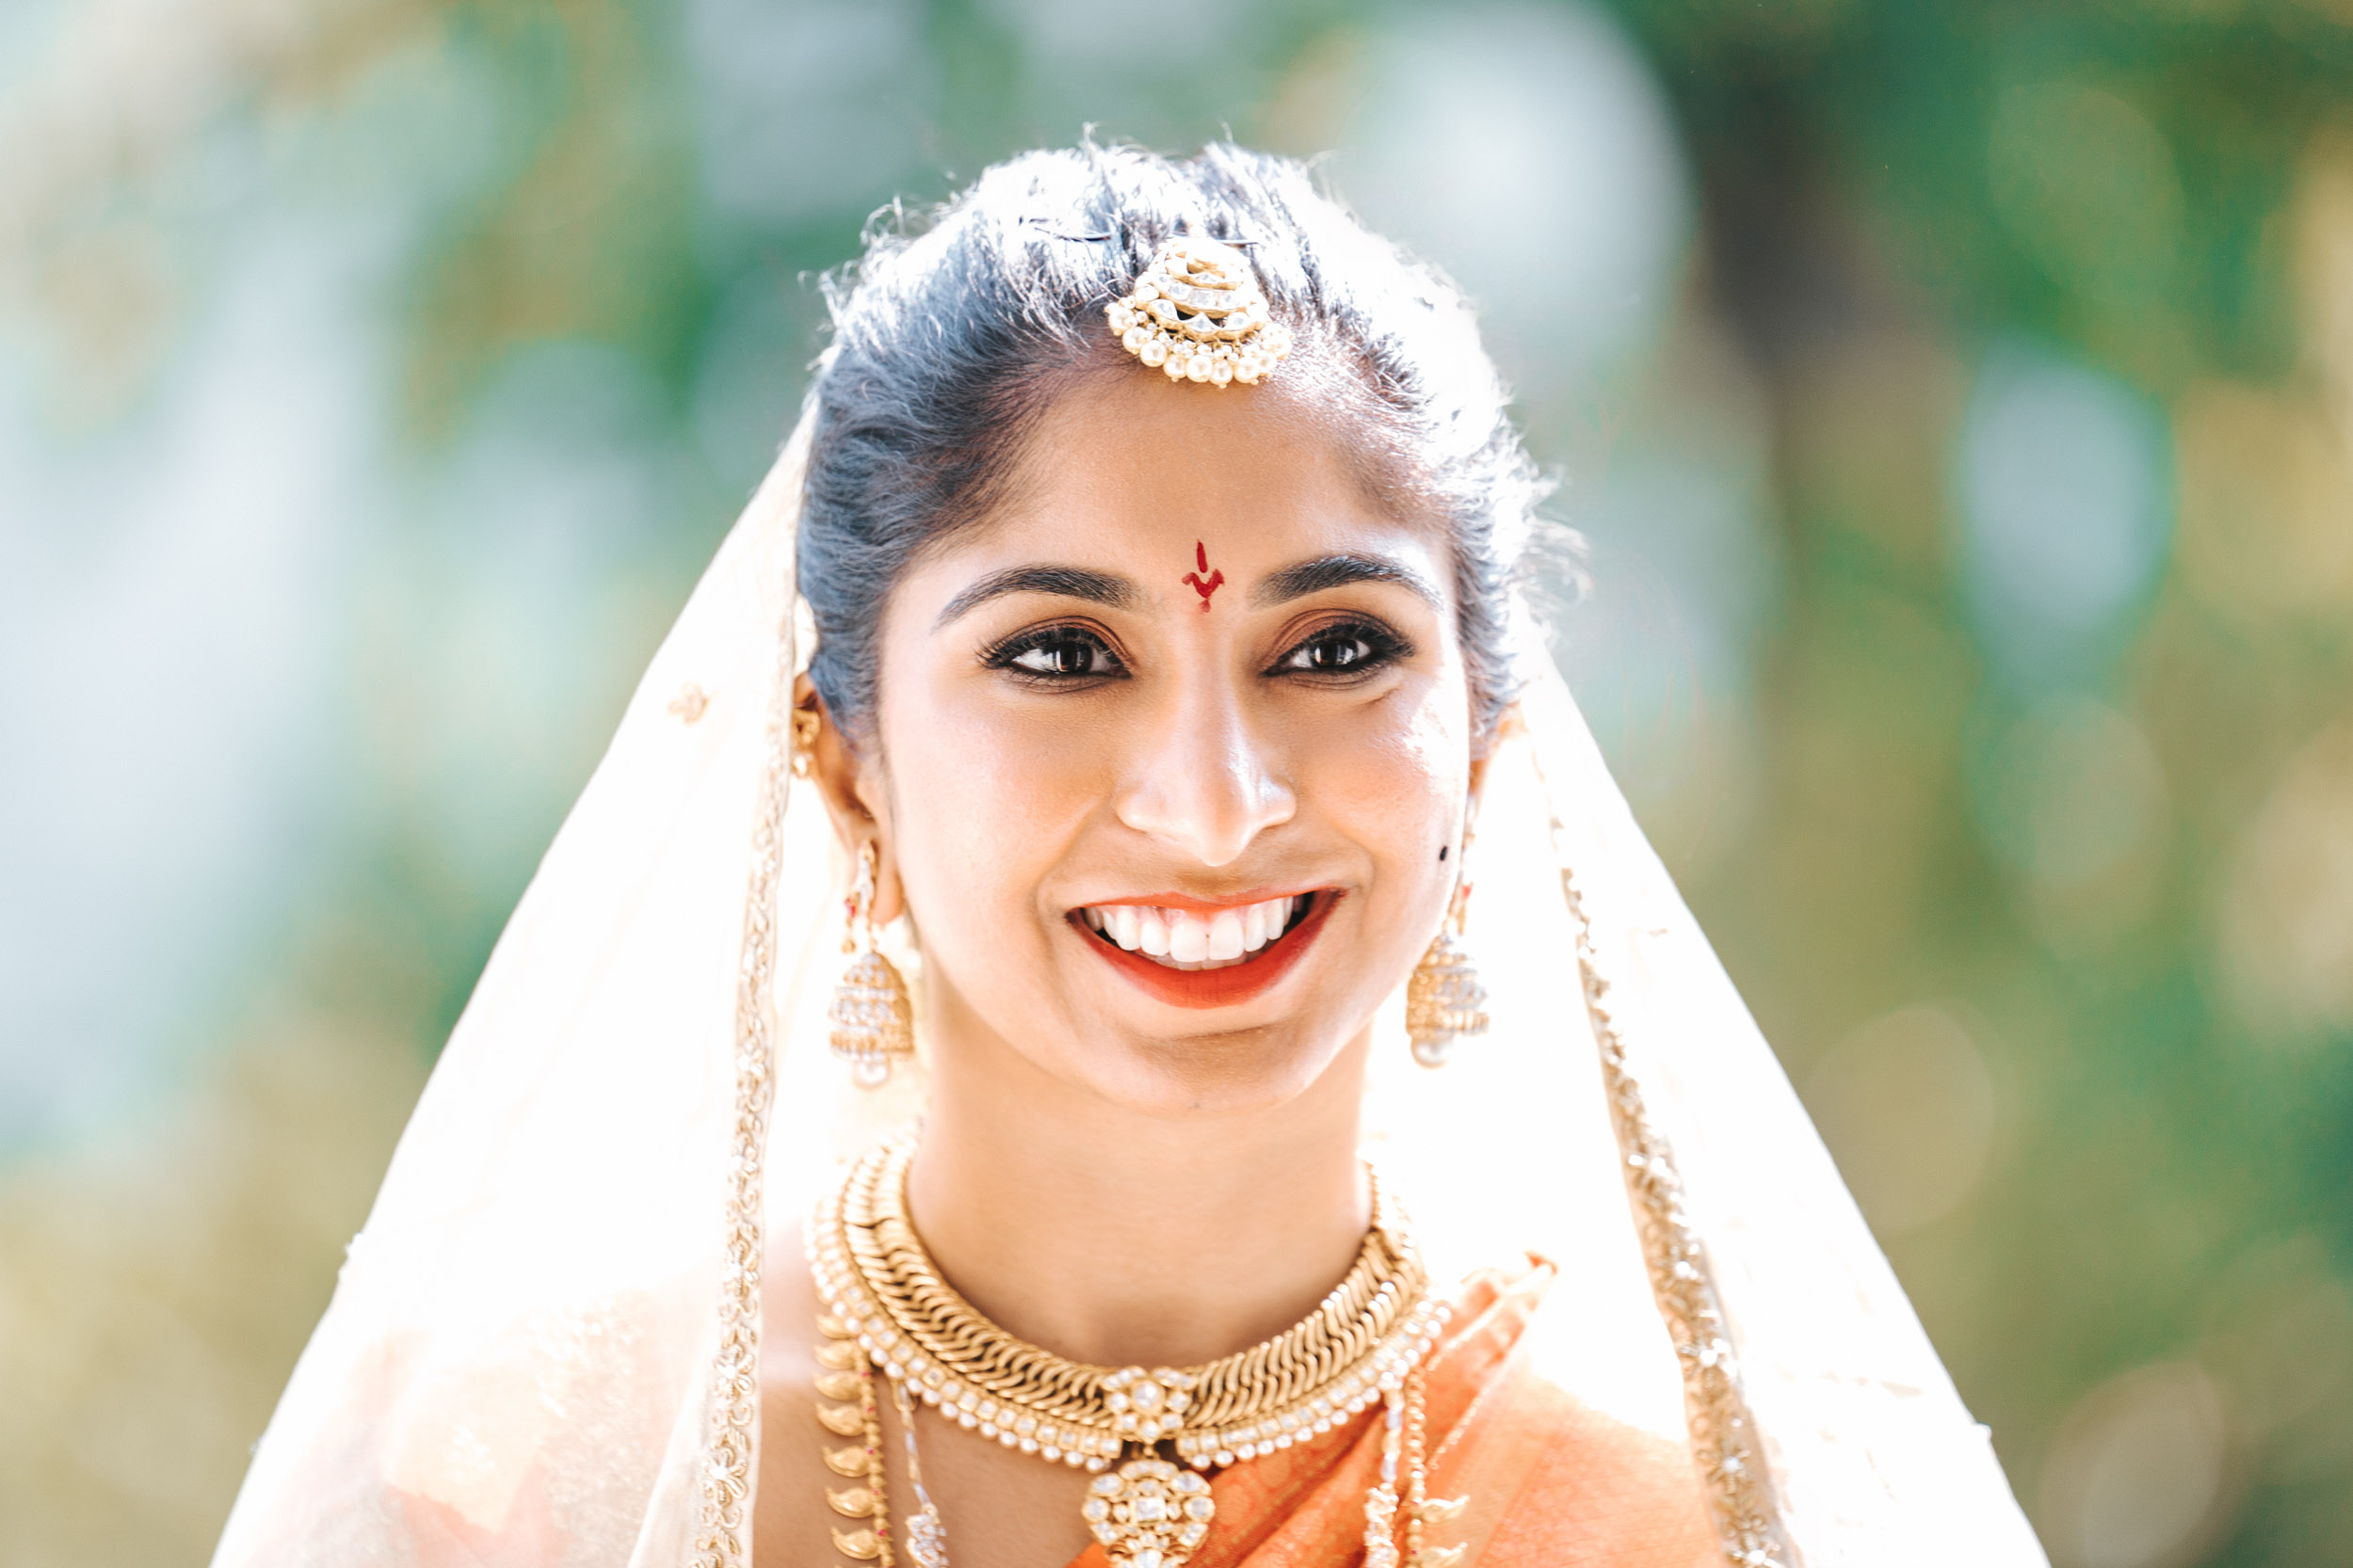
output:
<instances>
[{"instance_id":1,"label":"gold hair ornament with pearl fringe above the woman's forehead","mask_svg":"<svg viewBox=\"0 0 2353 1568\"><path fill-rule=\"evenodd\" d=\"M1249 259L1217 240L1165 242L1127 299L1111 301L1104 315L1120 348L1169 381L1252 386L1292 353L1292 331L1268 315Z\"/></svg>"}]
</instances>

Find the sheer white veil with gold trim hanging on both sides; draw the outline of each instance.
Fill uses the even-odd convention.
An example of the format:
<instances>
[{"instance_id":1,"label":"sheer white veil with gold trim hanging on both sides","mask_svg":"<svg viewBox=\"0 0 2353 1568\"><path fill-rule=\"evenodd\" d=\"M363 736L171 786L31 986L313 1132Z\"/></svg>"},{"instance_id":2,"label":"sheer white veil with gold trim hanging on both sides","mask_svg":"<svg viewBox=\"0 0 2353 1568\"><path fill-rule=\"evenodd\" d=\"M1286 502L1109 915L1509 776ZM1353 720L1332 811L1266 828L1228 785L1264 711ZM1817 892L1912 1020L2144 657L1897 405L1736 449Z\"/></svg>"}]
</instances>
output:
<instances>
[{"instance_id":1,"label":"sheer white veil with gold trim hanging on both sides","mask_svg":"<svg viewBox=\"0 0 2353 1568\"><path fill-rule=\"evenodd\" d=\"M765 1215L922 1095L826 1060L840 867L786 766L805 440L508 922L216 1568L751 1561ZM1384 1020L1369 1088L1435 1274L1534 1248L1574 1293L1612 1258L1631 1276L1638 1232L1727 1561L2042 1563L1541 637L1520 644L1473 860L1494 1032L1428 1074Z\"/></svg>"}]
</instances>

